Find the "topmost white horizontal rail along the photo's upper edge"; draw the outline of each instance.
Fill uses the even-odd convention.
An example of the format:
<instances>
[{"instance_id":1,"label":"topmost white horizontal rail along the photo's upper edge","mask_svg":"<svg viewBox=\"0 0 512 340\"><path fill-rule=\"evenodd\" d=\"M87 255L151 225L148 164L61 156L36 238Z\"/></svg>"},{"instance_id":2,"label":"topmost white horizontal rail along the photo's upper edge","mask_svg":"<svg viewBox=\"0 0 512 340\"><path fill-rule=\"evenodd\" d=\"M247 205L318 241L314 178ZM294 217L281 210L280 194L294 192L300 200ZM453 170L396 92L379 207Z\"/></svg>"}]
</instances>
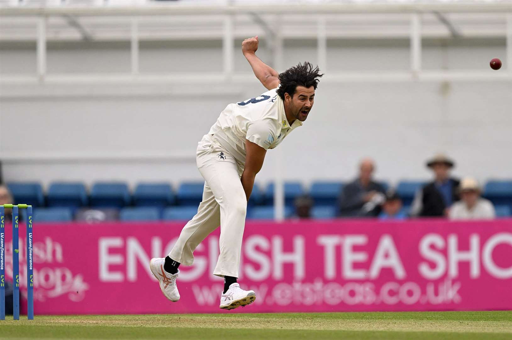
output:
<instances>
[{"instance_id":1,"label":"topmost white horizontal rail along the photo's upper edge","mask_svg":"<svg viewBox=\"0 0 512 340\"><path fill-rule=\"evenodd\" d=\"M234 14L261 11L295 13L502 13L511 10L508 0L7 0L4 15L166 15Z\"/></svg>"}]
</instances>

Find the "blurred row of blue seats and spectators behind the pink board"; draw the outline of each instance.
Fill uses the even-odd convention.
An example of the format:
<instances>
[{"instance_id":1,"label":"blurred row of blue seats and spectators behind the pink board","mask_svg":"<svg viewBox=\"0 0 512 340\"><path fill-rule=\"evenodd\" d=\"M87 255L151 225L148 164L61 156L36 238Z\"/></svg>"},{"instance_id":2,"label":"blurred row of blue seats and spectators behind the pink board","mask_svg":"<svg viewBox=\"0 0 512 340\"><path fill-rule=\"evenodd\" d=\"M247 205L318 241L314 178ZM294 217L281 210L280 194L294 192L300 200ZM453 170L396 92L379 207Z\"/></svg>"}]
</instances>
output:
<instances>
[{"instance_id":1,"label":"blurred row of blue seats and spectators behind the pink board","mask_svg":"<svg viewBox=\"0 0 512 340\"><path fill-rule=\"evenodd\" d=\"M426 167L433 172L431 182L400 182L397 188L390 189L385 183L375 181L375 164L372 159L365 158L359 164L356 178L345 185L337 182L316 182L311 186L310 192L306 193L302 184L286 183L285 217L373 217L381 220L401 220L417 217L491 219L511 215L512 181L496 183L498 195L486 193L489 200L482 197L482 188L476 179L464 177L459 181L453 177L451 170L454 166L455 162L449 157L436 155L426 162ZM31 185L36 187L38 202L35 204L35 221L189 219L197 211L202 195L200 183L182 184L176 197L168 184L141 184L133 195L126 184L96 184L89 196L83 184L56 183L50 186L47 197L42 193L39 184L25 184L29 187ZM117 196L102 192L109 186L117 190ZM488 186L489 183L486 188ZM70 187L71 191L78 192L77 196L70 198L66 194L55 195L56 189L66 192ZM9 188L13 189L13 194ZM188 191L181 190L182 188L188 188ZM24 184L0 185L0 205L15 201L25 203L27 196L23 196L24 190ZM253 192L247 218L272 218L273 184L269 184L265 191L255 189ZM493 203L497 204L496 209ZM9 217L9 214L9 209L6 209L6 216Z\"/></svg>"}]
</instances>

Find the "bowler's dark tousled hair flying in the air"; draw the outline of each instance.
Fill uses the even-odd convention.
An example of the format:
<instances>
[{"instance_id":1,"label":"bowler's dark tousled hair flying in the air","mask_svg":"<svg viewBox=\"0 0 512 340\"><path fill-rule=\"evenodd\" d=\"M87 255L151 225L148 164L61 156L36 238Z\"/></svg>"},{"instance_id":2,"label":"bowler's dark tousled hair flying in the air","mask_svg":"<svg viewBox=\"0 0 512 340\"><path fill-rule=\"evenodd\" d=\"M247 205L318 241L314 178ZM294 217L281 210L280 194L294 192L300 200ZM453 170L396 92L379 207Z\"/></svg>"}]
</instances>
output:
<instances>
[{"instance_id":1,"label":"bowler's dark tousled hair flying in the air","mask_svg":"<svg viewBox=\"0 0 512 340\"><path fill-rule=\"evenodd\" d=\"M285 98L285 93L288 93L293 97L297 86L304 86L305 88L313 87L316 90L316 86L319 82L319 77L324 74L319 73L318 66L313 67L311 63L304 62L304 64L298 63L297 66L290 67L279 75L279 88L277 90L281 99Z\"/></svg>"}]
</instances>

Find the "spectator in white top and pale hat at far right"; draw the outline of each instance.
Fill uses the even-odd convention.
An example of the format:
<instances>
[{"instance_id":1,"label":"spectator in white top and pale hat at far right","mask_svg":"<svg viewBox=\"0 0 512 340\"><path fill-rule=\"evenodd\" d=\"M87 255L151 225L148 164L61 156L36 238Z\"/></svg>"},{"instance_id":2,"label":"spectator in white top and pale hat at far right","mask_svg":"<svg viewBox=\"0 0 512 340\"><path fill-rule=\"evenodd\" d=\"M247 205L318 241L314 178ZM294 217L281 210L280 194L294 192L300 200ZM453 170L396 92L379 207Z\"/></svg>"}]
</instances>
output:
<instances>
[{"instance_id":1,"label":"spectator in white top and pale hat at far right","mask_svg":"<svg viewBox=\"0 0 512 340\"><path fill-rule=\"evenodd\" d=\"M462 179L459 192L461 200L450 209L450 219L492 219L496 216L493 204L480 197L481 190L476 179Z\"/></svg>"}]
</instances>

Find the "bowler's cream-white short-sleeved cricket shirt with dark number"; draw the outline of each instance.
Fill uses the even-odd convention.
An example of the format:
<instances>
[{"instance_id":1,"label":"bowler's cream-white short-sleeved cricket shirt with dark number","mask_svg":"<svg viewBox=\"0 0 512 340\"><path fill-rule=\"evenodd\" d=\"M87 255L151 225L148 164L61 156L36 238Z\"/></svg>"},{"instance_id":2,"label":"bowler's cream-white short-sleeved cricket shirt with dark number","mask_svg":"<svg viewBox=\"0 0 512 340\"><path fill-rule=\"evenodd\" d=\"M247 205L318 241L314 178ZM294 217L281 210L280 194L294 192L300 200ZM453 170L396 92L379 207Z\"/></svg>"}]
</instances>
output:
<instances>
[{"instance_id":1,"label":"bowler's cream-white short-sleeved cricket shirt with dark number","mask_svg":"<svg viewBox=\"0 0 512 340\"><path fill-rule=\"evenodd\" d=\"M240 103L229 104L208 132L211 140L245 164L245 139L265 150L278 146L302 122L292 126L285 114L283 99L277 88Z\"/></svg>"}]
</instances>

